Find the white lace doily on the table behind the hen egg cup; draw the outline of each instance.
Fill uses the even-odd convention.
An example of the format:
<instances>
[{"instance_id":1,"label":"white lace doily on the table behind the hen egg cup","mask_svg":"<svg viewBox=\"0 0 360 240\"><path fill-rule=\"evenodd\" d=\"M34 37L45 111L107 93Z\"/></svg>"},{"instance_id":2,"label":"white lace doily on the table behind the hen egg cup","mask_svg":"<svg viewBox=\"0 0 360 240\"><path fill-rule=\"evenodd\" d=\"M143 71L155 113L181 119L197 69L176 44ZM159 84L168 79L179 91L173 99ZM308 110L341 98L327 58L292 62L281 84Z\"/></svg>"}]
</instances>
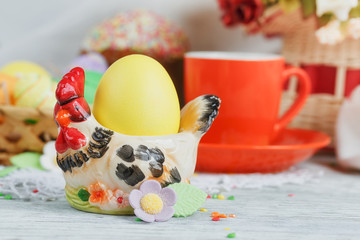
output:
<instances>
[{"instance_id":1,"label":"white lace doily on the table behind the hen egg cup","mask_svg":"<svg viewBox=\"0 0 360 240\"><path fill-rule=\"evenodd\" d=\"M0 167L1 169L2 167ZM284 184L304 184L323 175L322 170L293 167L276 174L195 174L191 183L208 194L230 191L232 188L280 187ZM0 193L14 199L56 200L65 196L62 174L37 169L20 169L0 178Z\"/></svg>"}]
</instances>

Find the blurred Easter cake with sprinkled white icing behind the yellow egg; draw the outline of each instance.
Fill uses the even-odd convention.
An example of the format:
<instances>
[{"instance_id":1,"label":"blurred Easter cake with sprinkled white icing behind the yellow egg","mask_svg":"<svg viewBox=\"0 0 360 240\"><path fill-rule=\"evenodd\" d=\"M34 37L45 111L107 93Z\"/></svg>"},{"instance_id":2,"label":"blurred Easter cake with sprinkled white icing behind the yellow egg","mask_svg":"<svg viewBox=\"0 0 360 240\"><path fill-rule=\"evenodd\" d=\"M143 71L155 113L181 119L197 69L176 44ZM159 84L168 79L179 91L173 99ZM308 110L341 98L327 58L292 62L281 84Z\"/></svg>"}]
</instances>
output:
<instances>
[{"instance_id":1,"label":"blurred Easter cake with sprinkled white icing behind the yellow egg","mask_svg":"<svg viewBox=\"0 0 360 240\"><path fill-rule=\"evenodd\" d=\"M189 50L184 32L164 17L145 10L120 13L95 26L83 52L99 52L111 65L121 57L141 53L159 61L169 72L183 105L183 56Z\"/></svg>"}]
</instances>

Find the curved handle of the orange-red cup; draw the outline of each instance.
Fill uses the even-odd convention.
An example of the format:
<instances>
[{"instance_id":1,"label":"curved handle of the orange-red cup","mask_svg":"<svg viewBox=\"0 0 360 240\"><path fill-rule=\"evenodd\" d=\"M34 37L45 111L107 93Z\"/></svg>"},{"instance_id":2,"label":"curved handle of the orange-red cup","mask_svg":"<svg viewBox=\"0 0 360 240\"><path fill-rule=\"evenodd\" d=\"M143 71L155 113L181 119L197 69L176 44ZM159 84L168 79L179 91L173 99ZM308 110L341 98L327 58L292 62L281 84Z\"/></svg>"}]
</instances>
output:
<instances>
[{"instance_id":1,"label":"curved handle of the orange-red cup","mask_svg":"<svg viewBox=\"0 0 360 240\"><path fill-rule=\"evenodd\" d=\"M286 113L277 121L274 125L274 135L277 136L281 130L283 130L289 122L296 116L306 102L307 97L310 94L311 82L309 75L297 67L286 68L282 74L283 85L291 76L298 77L299 94L293 105L286 111Z\"/></svg>"}]
</instances>

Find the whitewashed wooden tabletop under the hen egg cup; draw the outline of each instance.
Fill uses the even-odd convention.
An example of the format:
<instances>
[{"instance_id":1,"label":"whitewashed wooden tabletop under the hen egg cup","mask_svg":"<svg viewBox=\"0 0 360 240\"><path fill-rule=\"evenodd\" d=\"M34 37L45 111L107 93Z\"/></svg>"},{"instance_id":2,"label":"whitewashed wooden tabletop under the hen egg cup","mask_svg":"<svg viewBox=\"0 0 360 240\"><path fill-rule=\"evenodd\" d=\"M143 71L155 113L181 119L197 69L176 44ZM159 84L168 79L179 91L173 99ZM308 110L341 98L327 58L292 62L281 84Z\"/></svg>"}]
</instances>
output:
<instances>
[{"instance_id":1,"label":"whitewashed wooden tabletop under the hen egg cup","mask_svg":"<svg viewBox=\"0 0 360 240\"><path fill-rule=\"evenodd\" d=\"M164 223L85 213L65 199L0 200L0 239L227 239L232 232L235 239L360 239L360 174L336 170L324 159L329 157L303 163L324 169L316 181L234 189L224 193L234 195L234 201L208 199L204 204L208 212ZM214 222L213 211L237 217Z\"/></svg>"}]
</instances>

